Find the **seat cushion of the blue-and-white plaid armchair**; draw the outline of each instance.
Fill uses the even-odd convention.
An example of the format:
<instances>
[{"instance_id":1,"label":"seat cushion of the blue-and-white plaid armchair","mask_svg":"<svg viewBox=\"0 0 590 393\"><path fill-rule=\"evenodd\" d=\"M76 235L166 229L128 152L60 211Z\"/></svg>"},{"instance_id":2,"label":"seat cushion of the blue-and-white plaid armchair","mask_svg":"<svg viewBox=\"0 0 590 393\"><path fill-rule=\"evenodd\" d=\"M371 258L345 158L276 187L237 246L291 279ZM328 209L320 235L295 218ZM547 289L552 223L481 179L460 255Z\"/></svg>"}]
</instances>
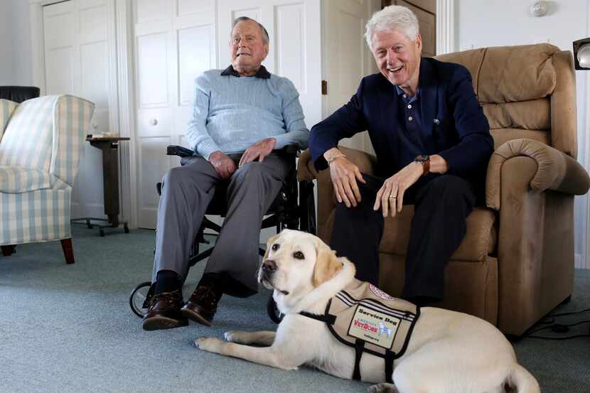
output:
<instances>
[{"instance_id":1,"label":"seat cushion of the blue-and-white plaid armchair","mask_svg":"<svg viewBox=\"0 0 590 393\"><path fill-rule=\"evenodd\" d=\"M0 193L26 193L49 188L48 172L22 166L0 166Z\"/></svg>"}]
</instances>

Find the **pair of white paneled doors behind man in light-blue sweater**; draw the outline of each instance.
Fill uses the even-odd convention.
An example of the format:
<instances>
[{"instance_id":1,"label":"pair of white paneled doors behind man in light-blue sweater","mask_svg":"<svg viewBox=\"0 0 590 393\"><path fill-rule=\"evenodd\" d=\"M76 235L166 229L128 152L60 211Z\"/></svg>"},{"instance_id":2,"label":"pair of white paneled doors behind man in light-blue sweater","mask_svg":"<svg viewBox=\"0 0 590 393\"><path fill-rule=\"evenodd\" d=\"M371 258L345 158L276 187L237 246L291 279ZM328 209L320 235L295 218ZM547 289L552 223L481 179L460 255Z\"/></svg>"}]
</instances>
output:
<instances>
[{"instance_id":1,"label":"pair of white paneled doors behind man in light-blue sweater","mask_svg":"<svg viewBox=\"0 0 590 393\"><path fill-rule=\"evenodd\" d=\"M135 0L139 226L156 227L156 183L176 157L166 145L186 146L193 80L230 65L232 21L249 16L269 32L264 65L299 90L309 127L321 119L319 0Z\"/></svg>"}]
</instances>

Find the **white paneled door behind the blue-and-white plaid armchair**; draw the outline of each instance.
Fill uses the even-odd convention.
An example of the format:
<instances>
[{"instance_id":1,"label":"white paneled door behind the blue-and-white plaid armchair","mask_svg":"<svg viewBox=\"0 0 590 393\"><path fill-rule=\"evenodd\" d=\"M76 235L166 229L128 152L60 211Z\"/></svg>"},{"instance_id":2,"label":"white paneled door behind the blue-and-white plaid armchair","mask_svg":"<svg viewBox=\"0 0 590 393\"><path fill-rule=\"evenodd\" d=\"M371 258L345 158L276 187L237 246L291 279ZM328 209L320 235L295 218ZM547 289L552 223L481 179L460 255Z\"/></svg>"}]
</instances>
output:
<instances>
[{"instance_id":1,"label":"white paneled door behind the blue-and-white plaid armchair","mask_svg":"<svg viewBox=\"0 0 590 393\"><path fill-rule=\"evenodd\" d=\"M71 94L94 102L91 133L117 131L113 21L113 0L43 6L45 94ZM84 149L72 193L72 217L104 217L102 154L90 144Z\"/></svg>"}]
</instances>

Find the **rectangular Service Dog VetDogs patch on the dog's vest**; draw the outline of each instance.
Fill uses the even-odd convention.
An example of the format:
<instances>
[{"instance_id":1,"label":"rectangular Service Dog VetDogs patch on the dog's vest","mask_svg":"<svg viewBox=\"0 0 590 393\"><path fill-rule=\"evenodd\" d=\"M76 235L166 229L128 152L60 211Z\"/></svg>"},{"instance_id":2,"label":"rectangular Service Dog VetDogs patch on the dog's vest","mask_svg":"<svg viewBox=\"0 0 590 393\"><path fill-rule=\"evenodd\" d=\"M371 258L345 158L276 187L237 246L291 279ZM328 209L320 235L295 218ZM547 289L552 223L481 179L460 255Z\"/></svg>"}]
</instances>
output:
<instances>
[{"instance_id":1,"label":"rectangular Service Dog VetDogs patch on the dog's vest","mask_svg":"<svg viewBox=\"0 0 590 393\"><path fill-rule=\"evenodd\" d=\"M390 349L400 322L399 318L358 305L353 321L350 322L348 335Z\"/></svg>"}]
</instances>

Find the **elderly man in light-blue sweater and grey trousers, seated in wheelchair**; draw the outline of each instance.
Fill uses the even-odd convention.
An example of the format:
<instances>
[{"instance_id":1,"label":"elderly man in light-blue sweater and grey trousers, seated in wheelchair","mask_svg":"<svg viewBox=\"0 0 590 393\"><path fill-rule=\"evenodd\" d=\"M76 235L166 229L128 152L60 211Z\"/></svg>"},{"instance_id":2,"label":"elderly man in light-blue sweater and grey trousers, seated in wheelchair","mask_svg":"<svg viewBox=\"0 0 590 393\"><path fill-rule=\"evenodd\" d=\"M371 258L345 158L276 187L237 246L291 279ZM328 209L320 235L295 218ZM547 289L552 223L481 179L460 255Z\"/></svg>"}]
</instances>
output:
<instances>
[{"instance_id":1,"label":"elderly man in light-blue sweater and grey trousers, seated in wheelchair","mask_svg":"<svg viewBox=\"0 0 590 393\"><path fill-rule=\"evenodd\" d=\"M309 131L293 83L262 66L269 51L266 29L250 18L237 18L230 51L228 68L206 71L195 80L186 135L197 155L163 178L154 296L145 330L184 326L188 319L210 325L222 294L257 292L262 217L292 165L274 151L307 144ZM184 303L188 253L221 181L229 181L227 215L205 273Z\"/></svg>"}]
</instances>

